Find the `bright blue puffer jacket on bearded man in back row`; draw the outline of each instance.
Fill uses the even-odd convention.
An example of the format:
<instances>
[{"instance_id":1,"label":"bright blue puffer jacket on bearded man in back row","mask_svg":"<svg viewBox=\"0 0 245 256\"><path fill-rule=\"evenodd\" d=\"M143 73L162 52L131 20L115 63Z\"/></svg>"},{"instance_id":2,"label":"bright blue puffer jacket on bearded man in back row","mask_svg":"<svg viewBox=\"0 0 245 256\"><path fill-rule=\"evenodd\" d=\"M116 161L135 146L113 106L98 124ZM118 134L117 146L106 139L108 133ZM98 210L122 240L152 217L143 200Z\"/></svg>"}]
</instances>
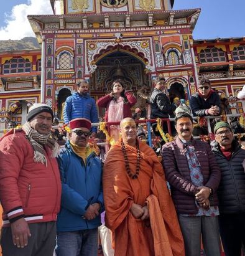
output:
<instances>
[{"instance_id":1,"label":"bright blue puffer jacket on bearded man in back row","mask_svg":"<svg viewBox=\"0 0 245 256\"><path fill-rule=\"evenodd\" d=\"M87 118L92 123L99 122L95 100L89 94L81 95L78 92L68 97L65 101L63 116L65 123L69 123L70 120L79 117ZM97 127L93 127L92 131L97 132Z\"/></svg>"}]
</instances>

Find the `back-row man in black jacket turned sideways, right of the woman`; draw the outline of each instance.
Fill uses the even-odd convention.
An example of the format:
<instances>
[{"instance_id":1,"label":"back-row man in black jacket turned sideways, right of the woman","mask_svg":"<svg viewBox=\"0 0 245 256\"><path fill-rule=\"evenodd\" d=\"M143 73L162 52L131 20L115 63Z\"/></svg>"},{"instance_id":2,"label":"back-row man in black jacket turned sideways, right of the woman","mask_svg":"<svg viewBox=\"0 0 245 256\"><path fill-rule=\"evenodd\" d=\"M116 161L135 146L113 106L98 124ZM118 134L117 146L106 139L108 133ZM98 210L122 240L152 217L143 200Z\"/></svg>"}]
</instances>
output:
<instances>
[{"instance_id":1,"label":"back-row man in black jacket turned sideways, right of the woman","mask_svg":"<svg viewBox=\"0 0 245 256\"><path fill-rule=\"evenodd\" d=\"M169 118L173 117L173 112L178 107L174 103L170 103L169 98L167 97L166 93L163 92L165 89L166 82L165 78L157 78L155 89L150 96L150 118ZM155 130L156 125L152 125L153 129ZM163 124L164 132L169 133L167 129L167 123L164 122ZM174 130L174 128L172 128ZM155 135L159 136L159 133L154 131Z\"/></svg>"}]
</instances>

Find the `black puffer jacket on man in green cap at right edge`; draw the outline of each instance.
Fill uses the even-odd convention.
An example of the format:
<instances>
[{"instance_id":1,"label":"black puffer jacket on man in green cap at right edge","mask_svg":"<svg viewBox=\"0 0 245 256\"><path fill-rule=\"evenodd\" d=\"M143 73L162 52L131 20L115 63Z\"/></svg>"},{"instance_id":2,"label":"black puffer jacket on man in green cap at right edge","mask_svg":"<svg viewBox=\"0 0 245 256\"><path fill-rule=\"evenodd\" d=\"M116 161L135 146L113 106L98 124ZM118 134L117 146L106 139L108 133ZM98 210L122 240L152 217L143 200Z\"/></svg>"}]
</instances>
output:
<instances>
[{"instance_id":1,"label":"black puffer jacket on man in green cap at right edge","mask_svg":"<svg viewBox=\"0 0 245 256\"><path fill-rule=\"evenodd\" d=\"M217 163L221 169L221 182L218 188L219 207L221 214L245 212L245 173L243 160L245 149L237 141L233 141L233 154L226 159L220 151L220 146L211 143Z\"/></svg>"}]
</instances>

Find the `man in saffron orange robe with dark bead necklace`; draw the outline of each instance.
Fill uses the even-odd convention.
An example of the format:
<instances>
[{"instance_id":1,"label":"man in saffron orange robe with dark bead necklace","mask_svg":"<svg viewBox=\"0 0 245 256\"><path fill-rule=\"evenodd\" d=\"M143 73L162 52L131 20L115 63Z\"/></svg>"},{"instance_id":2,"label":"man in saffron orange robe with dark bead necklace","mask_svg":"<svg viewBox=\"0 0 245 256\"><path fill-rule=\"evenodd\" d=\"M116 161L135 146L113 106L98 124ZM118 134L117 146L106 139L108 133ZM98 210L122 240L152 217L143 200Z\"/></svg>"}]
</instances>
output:
<instances>
[{"instance_id":1,"label":"man in saffron orange robe with dark bead necklace","mask_svg":"<svg viewBox=\"0 0 245 256\"><path fill-rule=\"evenodd\" d=\"M106 226L115 256L183 256L183 238L164 170L152 148L136 139L132 118L120 124L122 139L104 163Z\"/></svg>"}]
</instances>

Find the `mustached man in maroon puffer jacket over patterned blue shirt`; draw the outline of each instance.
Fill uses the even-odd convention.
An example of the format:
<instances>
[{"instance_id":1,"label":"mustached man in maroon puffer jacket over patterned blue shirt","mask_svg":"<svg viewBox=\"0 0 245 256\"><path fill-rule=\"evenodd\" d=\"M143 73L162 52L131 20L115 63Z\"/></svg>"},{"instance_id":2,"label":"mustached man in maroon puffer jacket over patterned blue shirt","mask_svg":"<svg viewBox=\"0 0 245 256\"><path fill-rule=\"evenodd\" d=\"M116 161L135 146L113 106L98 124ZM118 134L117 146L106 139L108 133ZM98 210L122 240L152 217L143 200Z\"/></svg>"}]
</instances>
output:
<instances>
[{"instance_id":1,"label":"mustached man in maroon puffer jacket over patterned blue shirt","mask_svg":"<svg viewBox=\"0 0 245 256\"><path fill-rule=\"evenodd\" d=\"M180 112L175 118L178 136L162 148L162 164L185 242L185 255L220 256L218 197L220 168L208 143L193 140L193 119Z\"/></svg>"}]
</instances>

